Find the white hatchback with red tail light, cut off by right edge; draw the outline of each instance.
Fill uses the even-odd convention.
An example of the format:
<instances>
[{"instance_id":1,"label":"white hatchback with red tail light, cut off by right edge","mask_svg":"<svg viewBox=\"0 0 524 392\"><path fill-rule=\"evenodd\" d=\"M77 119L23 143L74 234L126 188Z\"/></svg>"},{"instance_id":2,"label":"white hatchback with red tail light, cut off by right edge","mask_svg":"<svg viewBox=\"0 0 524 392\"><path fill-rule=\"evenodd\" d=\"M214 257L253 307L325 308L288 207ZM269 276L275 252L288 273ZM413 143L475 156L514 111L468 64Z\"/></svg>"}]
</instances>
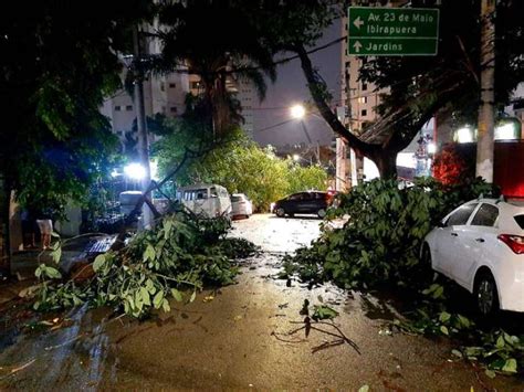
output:
<instances>
[{"instance_id":1,"label":"white hatchback with red tail light, cut off by right edge","mask_svg":"<svg viewBox=\"0 0 524 392\"><path fill-rule=\"evenodd\" d=\"M524 311L524 205L462 204L426 236L421 259L473 293L481 314Z\"/></svg>"}]
</instances>

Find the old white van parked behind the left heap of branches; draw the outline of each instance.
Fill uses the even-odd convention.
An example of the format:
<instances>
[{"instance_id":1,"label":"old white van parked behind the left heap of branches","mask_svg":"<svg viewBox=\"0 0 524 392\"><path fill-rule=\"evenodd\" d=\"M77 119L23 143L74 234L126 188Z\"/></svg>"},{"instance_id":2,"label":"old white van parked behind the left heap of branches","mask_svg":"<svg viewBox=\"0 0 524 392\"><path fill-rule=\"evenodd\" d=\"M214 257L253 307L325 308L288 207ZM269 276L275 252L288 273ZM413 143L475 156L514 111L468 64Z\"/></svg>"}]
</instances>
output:
<instances>
[{"instance_id":1,"label":"old white van parked behind the left heap of branches","mask_svg":"<svg viewBox=\"0 0 524 392\"><path fill-rule=\"evenodd\" d=\"M228 190L216 183L199 183L180 187L177 200L197 215L203 218L226 216L231 219L231 199Z\"/></svg>"}]
</instances>

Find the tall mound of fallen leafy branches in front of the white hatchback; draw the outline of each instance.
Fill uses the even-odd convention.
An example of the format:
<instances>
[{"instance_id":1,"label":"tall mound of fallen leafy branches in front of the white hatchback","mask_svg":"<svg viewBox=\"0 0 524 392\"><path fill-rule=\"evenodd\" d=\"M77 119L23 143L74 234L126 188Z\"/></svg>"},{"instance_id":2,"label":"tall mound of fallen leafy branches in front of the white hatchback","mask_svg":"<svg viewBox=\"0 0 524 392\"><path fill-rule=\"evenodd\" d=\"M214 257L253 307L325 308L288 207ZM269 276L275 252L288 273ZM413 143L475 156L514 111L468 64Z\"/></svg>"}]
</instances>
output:
<instances>
[{"instance_id":1,"label":"tall mound of fallen leafy branches in front of the white hatchback","mask_svg":"<svg viewBox=\"0 0 524 392\"><path fill-rule=\"evenodd\" d=\"M324 226L311 247L286 257L286 274L332 280L345 288L420 283L419 251L425 235L460 203L488 194L492 187L473 180L442 186L419 179L399 189L396 180L374 180L340 195L328 219L348 218L343 229Z\"/></svg>"}]
</instances>

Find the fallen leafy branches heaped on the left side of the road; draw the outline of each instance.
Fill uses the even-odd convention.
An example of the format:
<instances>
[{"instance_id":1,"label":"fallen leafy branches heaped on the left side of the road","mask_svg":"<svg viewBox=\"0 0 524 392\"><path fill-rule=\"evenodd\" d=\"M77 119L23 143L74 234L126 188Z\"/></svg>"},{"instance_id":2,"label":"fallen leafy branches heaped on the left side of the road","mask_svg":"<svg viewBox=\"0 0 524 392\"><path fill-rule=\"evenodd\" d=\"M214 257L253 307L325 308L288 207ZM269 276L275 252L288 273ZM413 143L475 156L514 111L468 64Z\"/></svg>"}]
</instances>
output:
<instances>
[{"instance_id":1,"label":"fallen leafy branches heaped on the left side of the road","mask_svg":"<svg viewBox=\"0 0 524 392\"><path fill-rule=\"evenodd\" d=\"M238 268L231 259L249 256L255 246L245 240L226 239L224 221L198 220L182 212L167 215L124 248L98 255L87 282L64 282L56 267L41 264L35 272L42 282L34 309L88 303L140 317L153 308L169 311L168 298L181 301L184 290L192 290L189 300L193 300L203 285L232 284ZM57 242L53 258L57 263L60 257Z\"/></svg>"}]
</instances>

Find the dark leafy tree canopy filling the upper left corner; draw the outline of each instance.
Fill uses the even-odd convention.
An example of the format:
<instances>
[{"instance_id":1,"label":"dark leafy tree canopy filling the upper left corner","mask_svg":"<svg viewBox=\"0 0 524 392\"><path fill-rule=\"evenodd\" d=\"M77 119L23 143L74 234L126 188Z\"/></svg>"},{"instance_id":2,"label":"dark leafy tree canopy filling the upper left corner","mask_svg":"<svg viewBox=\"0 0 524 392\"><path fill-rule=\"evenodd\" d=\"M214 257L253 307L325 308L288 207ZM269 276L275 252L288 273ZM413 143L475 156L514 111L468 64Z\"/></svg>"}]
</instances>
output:
<instances>
[{"instance_id":1,"label":"dark leafy tree canopy filling the upper left corner","mask_svg":"<svg viewBox=\"0 0 524 392\"><path fill-rule=\"evenodd\" d=\"M22 204L82 199L111 161L115 138L99 107L122 84L117 53L148 9L39 1L0 15L0 176Z\"/></svg>"}]
</instances>

